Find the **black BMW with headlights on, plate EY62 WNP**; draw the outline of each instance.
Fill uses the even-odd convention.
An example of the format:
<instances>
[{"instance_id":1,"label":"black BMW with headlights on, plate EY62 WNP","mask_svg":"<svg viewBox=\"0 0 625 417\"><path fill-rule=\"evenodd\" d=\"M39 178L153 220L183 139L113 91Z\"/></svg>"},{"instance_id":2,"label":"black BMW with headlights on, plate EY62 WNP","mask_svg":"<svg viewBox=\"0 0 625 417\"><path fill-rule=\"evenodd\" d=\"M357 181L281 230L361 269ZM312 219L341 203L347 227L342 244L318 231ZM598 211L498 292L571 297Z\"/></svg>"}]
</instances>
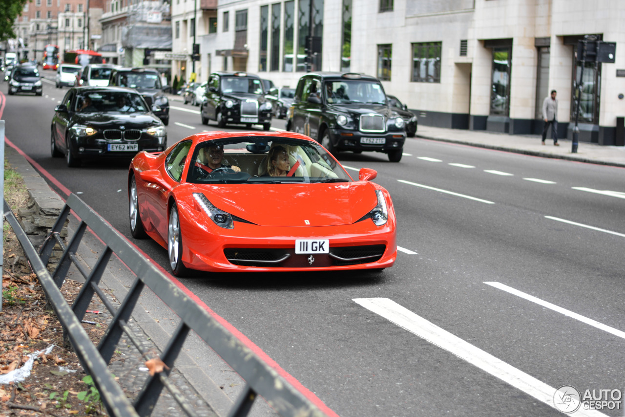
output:
<instances>
[{"instance_id":1,"label":"black BMW with headlights on, plate EY62 WNP","mask_svg":"<svg viewBox=\"0 0 625 417\"><path fill-rule=\"evenodd\" d=\"M74 87L54 109L50 148L68 167L82 160L163 151L167 130L133 88Z\"/></svg>"}]
</instances>

